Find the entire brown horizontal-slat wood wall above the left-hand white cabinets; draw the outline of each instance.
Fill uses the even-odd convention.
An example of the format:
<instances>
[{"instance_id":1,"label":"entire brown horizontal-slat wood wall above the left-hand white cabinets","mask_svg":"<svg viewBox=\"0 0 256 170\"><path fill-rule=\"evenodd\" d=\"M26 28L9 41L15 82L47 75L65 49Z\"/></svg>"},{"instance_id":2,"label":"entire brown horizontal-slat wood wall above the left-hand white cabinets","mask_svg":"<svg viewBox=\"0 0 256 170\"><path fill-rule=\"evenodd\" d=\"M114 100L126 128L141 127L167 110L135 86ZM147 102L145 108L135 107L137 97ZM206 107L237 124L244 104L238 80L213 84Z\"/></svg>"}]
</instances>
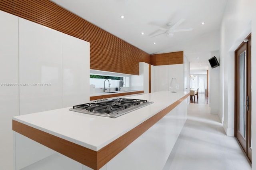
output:
<instances>
[{"instance_id":1,"label":"entire brown horizontal-slat wood wall above the left-hand white cabinets","mask_svg":"<svg viewBox=\"0 0 256 170\"><path fill-rule=\"evenodd\" d=\"M150 54L102 30L50 0L1 0L0 10L90 42L90 69L139 74Z\"/></svg>"}]
</instances>

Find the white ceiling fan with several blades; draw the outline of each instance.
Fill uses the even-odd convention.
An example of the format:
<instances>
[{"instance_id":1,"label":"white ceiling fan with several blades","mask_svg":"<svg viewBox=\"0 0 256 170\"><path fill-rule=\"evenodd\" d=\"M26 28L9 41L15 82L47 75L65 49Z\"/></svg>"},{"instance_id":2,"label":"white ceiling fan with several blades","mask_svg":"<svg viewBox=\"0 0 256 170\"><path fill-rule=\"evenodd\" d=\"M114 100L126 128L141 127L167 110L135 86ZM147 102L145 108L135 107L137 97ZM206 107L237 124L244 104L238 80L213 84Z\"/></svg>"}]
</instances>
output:
<instances>
[{"instance_id":1,"label":"white ceiling fan with several blades","mask_svg":"<svg viewBox=\"0 0 256 170\"><path fill-rule=\"evenodd\" d=\"M158 32L158 31L156 31L156 32L152 33L153 35L151 34L151 38L156 37L156 36L160 36L160 35L162 35L162 34L166 34L166 36L168 36L168 37L173 37L173 36L174 36L174 32L192 31L193 28L176 29L182 22L184 22L184 20L185 20L185 19L183 19L183 18L180 19L180 20L179 20L178 22L176 22L176 24L174 24L173 26L172 26L172 23L171 23L171 22L167 23L167 24L166 24L166 25L168 26L167 29L158 26L158 29L159 29L159 30L162 30L162 31L164 31L164 32L161 33L161 34L154 35L156 32Z\"/></svg>"}]
</instances>

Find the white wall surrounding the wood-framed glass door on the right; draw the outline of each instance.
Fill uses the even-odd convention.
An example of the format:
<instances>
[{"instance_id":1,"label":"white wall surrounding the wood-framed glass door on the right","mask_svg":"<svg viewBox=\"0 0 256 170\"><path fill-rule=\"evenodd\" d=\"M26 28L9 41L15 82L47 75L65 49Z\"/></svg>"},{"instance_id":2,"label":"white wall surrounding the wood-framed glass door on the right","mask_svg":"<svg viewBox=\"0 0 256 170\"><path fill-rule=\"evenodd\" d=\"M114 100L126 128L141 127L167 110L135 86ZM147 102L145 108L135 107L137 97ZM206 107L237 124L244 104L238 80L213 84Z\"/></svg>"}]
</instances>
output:
<instances>
[{"instance_id":1,"label":"white wall surrounding the wood-framed glass door on the right","mask_svg":"<svg viewBox=\"0 0 256 170\"><path fill-rule=\"evenodd\" d=\"M252 32L252 146L256 146L256 1L228 0L220 28L221 113L226 134L234 136L234 51ZM256 150L252 149L252 170L256 170Z\"/></svg>"}]
</instances>

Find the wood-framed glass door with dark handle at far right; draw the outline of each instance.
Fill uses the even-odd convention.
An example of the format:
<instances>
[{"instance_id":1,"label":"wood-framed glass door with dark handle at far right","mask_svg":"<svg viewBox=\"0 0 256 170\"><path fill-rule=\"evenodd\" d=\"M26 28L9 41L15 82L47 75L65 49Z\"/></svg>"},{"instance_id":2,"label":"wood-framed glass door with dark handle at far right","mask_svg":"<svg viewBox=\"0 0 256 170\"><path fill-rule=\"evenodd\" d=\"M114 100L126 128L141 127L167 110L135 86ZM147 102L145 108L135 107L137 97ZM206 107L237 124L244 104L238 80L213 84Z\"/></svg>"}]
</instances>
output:
<instances>
[{"instance_id":1,"label":"wood-framed glass door with dark handle at far right","mask_svg":"<svg viewBox=\"0 0 256 170\"><path fill-rule=\"evenodd\" d=\"M235 136L252 162L251 35L235 51Z\"/></svg>"}]
</instances>

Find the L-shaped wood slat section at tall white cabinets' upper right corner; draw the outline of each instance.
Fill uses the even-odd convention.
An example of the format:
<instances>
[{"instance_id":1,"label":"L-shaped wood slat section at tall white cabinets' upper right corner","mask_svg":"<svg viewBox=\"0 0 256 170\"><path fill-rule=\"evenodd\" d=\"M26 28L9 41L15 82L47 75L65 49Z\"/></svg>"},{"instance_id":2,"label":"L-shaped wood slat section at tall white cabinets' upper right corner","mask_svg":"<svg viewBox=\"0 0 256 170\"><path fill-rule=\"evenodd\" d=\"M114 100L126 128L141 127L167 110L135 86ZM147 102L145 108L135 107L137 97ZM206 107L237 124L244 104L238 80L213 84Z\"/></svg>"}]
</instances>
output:
<instances>
[{"instance_id":1,"label":"L-shaped wood slat section at tall white cabinets' upper right corner","mask_svg":"<svg viewBox=\"0 0 256 170\"><path fill-rule=\"evenodd\" d=\"M102 70L102 29L84 20L84 40L90 42L90 69Z\"/></svg>"}]
</instances>

